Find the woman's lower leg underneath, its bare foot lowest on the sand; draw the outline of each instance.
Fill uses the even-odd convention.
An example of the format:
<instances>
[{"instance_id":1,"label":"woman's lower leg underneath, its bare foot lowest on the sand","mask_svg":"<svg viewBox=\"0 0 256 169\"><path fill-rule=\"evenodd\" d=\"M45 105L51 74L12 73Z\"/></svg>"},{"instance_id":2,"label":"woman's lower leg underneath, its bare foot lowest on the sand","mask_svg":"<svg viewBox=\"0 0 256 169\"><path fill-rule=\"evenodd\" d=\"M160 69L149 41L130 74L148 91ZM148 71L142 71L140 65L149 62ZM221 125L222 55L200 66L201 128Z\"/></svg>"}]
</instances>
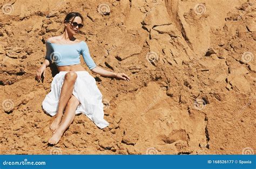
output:
<instances>
[{"instance_id":1,"label":"woman's lower leg underneath, its bare foot lowest on the sand","mask_svg":"<svg viewBox=\"0 0 256 169\"><path fill-rule=\"evenodd\" d=\"M70 124L73 122L75 115L76 115L76 109L79 105L79 101L77 98L72 95L70 100L68 101L68 104L66 105L65 113L62 118L62 122L59 124L59 127L57 130L53 133L52 137L48 140L49 144L57 144L62 137L63 133L66 131L66 129L69 128Z\"/></svg>"}]
</instances>

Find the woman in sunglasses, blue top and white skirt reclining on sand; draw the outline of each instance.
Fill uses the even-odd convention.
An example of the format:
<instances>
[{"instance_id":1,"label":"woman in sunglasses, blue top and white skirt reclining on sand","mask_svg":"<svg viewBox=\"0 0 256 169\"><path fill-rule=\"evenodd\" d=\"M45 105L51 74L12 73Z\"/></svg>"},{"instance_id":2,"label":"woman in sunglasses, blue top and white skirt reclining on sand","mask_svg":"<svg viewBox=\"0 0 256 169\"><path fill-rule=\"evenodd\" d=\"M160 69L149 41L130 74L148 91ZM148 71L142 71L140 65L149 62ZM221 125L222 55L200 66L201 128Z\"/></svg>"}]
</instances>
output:
<instances>
[{"instance_id":1,"label":"woman in sunglasses, blue top and white skirt reclining on sand","mask_svg":"<svg viewBox=\"0 0 256 169\"><path fill-rule=\"evenodd\" d=\"M89 69L103 76L116 77L129 81L124 73L114 73L98 67L92 60L84 41L74 37L83 27L83 17L78 12L69 13L64 19L64 33L46 40L46 57L37 70L36 78L45 77L45 69L55 62L59 73L54 76L51 91L46 95L43 110L55 116L50 129L53 131L49 144L57 144L76 114L83 113L100 129L109 125L104 119L102 94L95 79L80 65L80 55ZM63 115L63 111L65 112Z\"/></svg>"}]
</instances>

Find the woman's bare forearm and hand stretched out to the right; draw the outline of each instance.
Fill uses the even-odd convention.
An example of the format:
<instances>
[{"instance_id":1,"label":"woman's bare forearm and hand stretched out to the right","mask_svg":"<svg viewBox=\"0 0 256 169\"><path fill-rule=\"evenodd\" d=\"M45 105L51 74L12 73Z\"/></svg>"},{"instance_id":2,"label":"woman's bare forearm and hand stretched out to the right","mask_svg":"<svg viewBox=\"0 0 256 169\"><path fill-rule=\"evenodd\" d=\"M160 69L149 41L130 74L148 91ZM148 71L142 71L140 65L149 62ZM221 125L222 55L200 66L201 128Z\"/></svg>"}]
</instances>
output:
<instances>
[{"instance_id":1,"label":"woman's bare forearm and hand stretched out to the right","mask_svg":"<svg viewBox=\"0 0 256 169\"><path fill-rule=\"evenodd\" d=\"M107 70L105 70L105 69L103 69L99 66L96 66L95 68L91 69L91 71L93 73L97 73L97 74L102 75L102 76L120 78L120 79L127 80L127 81L130 80L130 78L124 73L110 72L110 71L107 71Z\"/></svg>"}]
</instances>

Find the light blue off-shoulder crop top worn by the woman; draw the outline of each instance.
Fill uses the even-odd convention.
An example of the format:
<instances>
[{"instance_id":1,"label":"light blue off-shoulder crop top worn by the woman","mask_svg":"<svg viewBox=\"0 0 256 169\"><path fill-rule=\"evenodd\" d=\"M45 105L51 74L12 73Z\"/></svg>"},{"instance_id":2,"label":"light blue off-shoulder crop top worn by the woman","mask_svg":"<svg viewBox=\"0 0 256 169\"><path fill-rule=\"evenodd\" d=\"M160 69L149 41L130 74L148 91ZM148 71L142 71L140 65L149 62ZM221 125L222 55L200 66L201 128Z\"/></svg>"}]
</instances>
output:
<instances>
[{"instance_id":1,"label":"light blue off-shoulder crop top worn by the woman","mask_svg":"<svg viewBox=\"0 0 256 169\"><path fill-rule=\"evenodd\" d=\"M83 55L85 64L89 69L95 68L97 65L92 60L89 48L85 41L76 44L55 44L46 40L46 56L49 62L54 62L56 66L67 66L80 64L80 55Z\"/></svg>"}]
</instances>

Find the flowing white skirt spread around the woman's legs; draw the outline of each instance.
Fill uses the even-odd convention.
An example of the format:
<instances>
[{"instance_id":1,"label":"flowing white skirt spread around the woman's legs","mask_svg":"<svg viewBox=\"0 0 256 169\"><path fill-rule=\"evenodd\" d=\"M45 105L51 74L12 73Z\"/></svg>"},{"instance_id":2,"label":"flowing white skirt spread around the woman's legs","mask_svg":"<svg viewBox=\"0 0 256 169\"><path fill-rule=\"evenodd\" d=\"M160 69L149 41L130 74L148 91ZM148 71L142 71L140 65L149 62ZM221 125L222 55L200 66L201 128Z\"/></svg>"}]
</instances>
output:
<instances>
[{"instance_id":1,"label":"flowing white skirt spread around the woman's legs","mask_svg":"<svg viewBox=\"0 0 256 169\"><path fill-rule=\"evenodd\" d=\"M68 72L60 71L52 80L51 91L42 103L46 114L54 116L57 113L60 91L66 73ZM104 119L102 93L96 85L96 80L87 71L76 71L76 73L77 79L72 93L80 102L76 109L76 115L83 113L100 129L105 128L109 123Z\"/></svg>"}]
</instances>

